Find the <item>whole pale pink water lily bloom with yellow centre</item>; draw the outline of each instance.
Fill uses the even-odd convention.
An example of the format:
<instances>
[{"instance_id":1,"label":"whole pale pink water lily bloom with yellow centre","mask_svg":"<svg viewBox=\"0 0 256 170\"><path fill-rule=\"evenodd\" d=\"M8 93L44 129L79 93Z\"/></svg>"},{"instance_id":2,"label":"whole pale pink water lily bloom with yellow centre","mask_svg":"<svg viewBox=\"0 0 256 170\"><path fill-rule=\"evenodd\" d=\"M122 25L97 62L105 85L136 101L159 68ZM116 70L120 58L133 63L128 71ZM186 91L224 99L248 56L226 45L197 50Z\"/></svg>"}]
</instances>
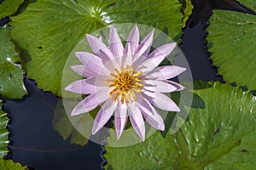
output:
<instances>
[{"instance_id":1,"label":"whole pale pink water lily bloom with yellow centre","mask_svg":"<svg viewBox=\"0 0 256 170\"><path fill-rule=\"evenodd\" d=\"M89 94L72 111L72 116L98 111L92 134L97 133L114 116L117 139L125 129L128 117L138 136L145 140L144 119L154 128L163 131L165 124L154 107L165 111L180 111L177 105L162 93L183 89L177 82L168 79L176 77L185 68L176 65L160 66L163 59L171 54L176 42L166 43L150 54L154 30L142 42L134 26L126 41L125 48L117 31L109 31L109 48L97 37L86 35L94 54L76 52L82 65L73 65L85 79L72 82L65 88L77 94Z\"/></svg>"}]
</instances>

